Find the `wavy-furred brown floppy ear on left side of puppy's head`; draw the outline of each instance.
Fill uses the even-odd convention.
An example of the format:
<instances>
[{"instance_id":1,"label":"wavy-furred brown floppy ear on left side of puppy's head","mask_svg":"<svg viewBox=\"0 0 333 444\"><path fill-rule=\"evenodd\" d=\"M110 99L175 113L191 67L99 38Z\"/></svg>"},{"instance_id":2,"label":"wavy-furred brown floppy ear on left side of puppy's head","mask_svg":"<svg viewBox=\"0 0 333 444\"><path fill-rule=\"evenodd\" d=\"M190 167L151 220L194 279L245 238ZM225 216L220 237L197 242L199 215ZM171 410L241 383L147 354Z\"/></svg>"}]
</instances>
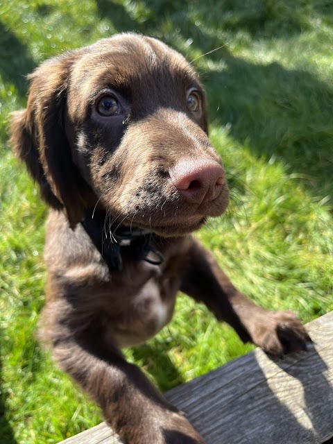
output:
<instances>
[{"instance_id":1,"label":"wavy-furred brown floppy ear on left side of puppy's head","mask_svg":"<svg viewBox=\"0 0 333 444\"><path fill-rule=\"evenodd\" d=\"M87 184L71 158L65 134L69 71L76 52L44 62L29 76L26 110L12 113L11 142L15 153L40 185L51 207L65 207L71 228L82 219Z\"/></svg>"}]
</instances>

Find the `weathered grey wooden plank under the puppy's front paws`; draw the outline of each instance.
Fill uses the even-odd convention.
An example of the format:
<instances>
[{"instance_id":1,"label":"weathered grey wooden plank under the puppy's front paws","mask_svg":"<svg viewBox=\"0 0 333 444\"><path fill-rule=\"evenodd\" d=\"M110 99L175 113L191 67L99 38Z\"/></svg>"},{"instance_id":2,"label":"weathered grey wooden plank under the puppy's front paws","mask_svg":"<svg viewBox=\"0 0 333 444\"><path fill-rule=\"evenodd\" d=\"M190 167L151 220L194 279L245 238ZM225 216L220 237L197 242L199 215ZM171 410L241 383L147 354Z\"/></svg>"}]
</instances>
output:
<instances>
[{"instance_id":1,"label":"weathered grey wooden plank under the puppy's front paws","mask_svg":"<svg viewBox=\"0 0 333 444\"><path fill-rule=\"evenodd\" d=\"M207 444L322 444L333 436L333 311L307 324L307 352L262 350L166 393ZM119 444L104 423L63 444ZM147 443L153 444L153 443Z\"/></svg>"}]
</instances>

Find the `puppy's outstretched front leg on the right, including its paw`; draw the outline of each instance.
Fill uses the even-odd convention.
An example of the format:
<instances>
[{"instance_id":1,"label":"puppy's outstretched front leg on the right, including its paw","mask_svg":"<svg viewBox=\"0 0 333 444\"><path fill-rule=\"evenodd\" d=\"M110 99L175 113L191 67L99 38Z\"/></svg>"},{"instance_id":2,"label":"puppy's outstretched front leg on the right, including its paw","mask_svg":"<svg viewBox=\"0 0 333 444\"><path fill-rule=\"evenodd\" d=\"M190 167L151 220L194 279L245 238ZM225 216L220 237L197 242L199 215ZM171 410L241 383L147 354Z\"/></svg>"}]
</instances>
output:
<instances>
[{"instance_id":1,"label":"puppy's outstretched front leg on the right, including its paw","mask_svg":"<svg viewBox=\"0 0 333 444\"><path fill-rule=\"evenodd\" d=\"M306 350L311 341L291 311L268 311L235 289L212 253L196 239L189 248L181 289L231 325L242 341L252 341L271 355Z\"/></svg>"}]
</instances>

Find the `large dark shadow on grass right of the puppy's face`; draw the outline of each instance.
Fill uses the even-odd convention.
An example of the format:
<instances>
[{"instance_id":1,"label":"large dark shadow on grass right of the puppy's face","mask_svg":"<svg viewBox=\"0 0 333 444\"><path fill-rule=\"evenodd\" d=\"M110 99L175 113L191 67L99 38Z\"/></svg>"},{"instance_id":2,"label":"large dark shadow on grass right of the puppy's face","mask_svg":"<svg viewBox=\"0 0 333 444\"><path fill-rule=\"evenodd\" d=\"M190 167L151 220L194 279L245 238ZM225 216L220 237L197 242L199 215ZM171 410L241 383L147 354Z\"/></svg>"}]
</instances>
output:
<instances>
[{"instance_id":1,"label":"large dark shadow on grass right of the puppy's face","mask_svg":"<svg viewBox=\"0 0 333 444\"><path fill-rule=\"evenodd\" d=\"M257 158L278 157L314 196L333 188L333 89L309 71L255 65L224 51L223 71L203 73L214 122ZM222 153L223 155L223 153Z\"/></svg>"}]
</instances>

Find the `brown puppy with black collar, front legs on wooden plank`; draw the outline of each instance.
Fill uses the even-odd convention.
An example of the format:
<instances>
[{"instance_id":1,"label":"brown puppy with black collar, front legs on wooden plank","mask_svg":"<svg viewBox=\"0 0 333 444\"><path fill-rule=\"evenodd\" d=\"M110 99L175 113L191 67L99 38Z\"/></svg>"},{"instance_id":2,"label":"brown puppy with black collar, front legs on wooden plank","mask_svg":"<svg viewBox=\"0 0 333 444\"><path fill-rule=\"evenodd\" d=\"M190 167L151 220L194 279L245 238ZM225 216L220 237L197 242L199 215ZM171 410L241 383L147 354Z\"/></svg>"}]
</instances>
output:
<instances>
[{"instance_id":1,"label":"brown puppy with black collar, front legs on wooden plank","mask_svg":"<svg viewBox=\"0 0 333 444\"><path fill-rule=\"evenodd\" d=\"M239 293L189 234L228 205L194 69L123 34L44 62L31 82L11 131L51 207L43 339L126 443L203 443L121 354L170 321L178 290L273 355L310 339L292 313Z\"/></svg>"}]
</instances>

